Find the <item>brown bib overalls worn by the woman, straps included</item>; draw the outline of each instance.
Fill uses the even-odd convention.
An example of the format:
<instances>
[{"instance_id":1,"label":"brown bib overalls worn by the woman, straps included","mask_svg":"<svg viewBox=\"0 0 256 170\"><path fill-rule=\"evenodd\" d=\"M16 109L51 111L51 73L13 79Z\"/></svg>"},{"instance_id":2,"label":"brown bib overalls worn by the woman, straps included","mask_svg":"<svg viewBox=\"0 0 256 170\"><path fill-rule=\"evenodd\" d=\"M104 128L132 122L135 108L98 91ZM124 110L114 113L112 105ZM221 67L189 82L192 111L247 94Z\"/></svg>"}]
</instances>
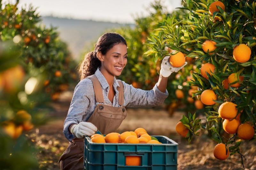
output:
<instances>
[{"instance_id":1,"label":"brown bib overalls worn by the woman, straps included","mask_svg":"<svg viewBox=\"0 0 256 170\"><path fill-rule=\"evenodd\" d=\"M99 103L104 103L103 92L100 81L93 74L88 76L92 80L95 99ZM121 80L117 80L119 87L118 101L120 107L112 107L104 104L98 104L87 122L94 124L102 134L115 132L127 115L124 104L124 87ZM68 145L66 151L60 157L60 169L80 170L84 169L84 139L74 138Z\"/></svg>"}]
</instances>

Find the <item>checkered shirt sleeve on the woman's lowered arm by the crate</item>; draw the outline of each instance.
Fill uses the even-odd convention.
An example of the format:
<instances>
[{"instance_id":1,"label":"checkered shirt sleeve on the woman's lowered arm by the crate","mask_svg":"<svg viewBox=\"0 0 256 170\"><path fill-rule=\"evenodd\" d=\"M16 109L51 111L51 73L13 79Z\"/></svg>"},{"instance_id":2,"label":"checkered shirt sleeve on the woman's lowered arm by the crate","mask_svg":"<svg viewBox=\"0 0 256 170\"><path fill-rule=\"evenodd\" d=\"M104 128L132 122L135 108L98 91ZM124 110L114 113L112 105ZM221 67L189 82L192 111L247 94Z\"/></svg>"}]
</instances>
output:
<instances>
[{"instance_id":1,"label":"checkered shirt sleeve on the woman's lowered arm by the crate","mask_svg":"<svg viewBox=\"0 0 256 170\"><path fill-rule=\"evenodd\" d=\"M88 86L92 86L92 81L89 78L85 78L76 85L74 90L63 129L63 134L69 141L72 141L75 136L69 132L68 127L71 124L78 124L82 121L89 105L90 100L87 96Z\"/></svg>"}]
</instances>

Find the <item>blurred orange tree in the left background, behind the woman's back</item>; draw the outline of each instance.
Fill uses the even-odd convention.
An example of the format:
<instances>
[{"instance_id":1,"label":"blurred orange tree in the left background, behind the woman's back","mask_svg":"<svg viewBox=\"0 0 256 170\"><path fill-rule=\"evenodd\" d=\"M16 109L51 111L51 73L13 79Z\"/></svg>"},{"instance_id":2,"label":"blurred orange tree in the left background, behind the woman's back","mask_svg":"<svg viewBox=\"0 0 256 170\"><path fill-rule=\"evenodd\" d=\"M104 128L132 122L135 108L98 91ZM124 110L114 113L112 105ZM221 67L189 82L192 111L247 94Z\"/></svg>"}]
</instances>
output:
<instances>
[{"instance_id":1,"label":"blurred orange tree in the left background, behind the woman's back","mask_svg":"<svg viewBox=\"0 0 256 170\"><path fill-rule=\"evenodd\" d=\"M5 4L2 9L0 2L1 40L13 40L20 46L26 72L32 68L47 72L45 92L50 93L53 100L58 99L60 92L76 80L76 63L67 45L60 41L56 28L39 26L41 18L36 10L32 6L18 10L17 4Z\"/></svg>"}]
</instances>

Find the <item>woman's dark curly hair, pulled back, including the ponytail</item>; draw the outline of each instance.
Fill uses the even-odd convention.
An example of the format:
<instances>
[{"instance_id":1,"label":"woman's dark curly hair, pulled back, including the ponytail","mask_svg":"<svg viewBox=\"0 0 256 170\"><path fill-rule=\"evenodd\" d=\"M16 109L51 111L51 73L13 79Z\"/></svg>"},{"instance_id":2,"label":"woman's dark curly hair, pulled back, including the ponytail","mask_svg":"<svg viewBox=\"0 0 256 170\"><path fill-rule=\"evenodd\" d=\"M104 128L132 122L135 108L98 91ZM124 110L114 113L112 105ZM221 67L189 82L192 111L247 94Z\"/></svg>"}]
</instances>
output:
<instances>
[{"instance_id":1,"label":"woman's dark curly hair, pulled back, including the ponytail","mask_svg":"<svg viewBox=\"0 0 256 170\"><path fill-rule=\"evenodd\" d=\"M87 53L80 65L80 80L91 76L98 67L101 66L100 60L97 58L97 52L105 55L116 44L124 44L127 46L124 38L118 33L104 33L95 44L94 51Z\"/></svg>"}]
</instances>

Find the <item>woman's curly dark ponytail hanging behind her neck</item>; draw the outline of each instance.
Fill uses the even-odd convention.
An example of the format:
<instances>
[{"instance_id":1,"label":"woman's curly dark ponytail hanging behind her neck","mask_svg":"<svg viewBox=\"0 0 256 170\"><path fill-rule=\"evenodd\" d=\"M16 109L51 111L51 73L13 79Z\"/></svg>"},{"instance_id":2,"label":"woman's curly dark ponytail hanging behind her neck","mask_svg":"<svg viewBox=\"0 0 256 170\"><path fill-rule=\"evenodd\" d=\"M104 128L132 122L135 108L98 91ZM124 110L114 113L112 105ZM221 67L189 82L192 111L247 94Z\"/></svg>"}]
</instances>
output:
<instances>
[{"instance_id":1,"label":"woman's curly dark ponytail hanging behind her neck","mask_svg":"<svg viewBox=\"0 0 256 170\"><path fill-rule=\"evenodd\" d=\"M101 66L101 62L97 58L96 53L94 51L87 53L78 71L80 74L80 80L83 80L87 76L93 75L97 70L97 68L100 66Z\"/></svg>"}]
</instances>

